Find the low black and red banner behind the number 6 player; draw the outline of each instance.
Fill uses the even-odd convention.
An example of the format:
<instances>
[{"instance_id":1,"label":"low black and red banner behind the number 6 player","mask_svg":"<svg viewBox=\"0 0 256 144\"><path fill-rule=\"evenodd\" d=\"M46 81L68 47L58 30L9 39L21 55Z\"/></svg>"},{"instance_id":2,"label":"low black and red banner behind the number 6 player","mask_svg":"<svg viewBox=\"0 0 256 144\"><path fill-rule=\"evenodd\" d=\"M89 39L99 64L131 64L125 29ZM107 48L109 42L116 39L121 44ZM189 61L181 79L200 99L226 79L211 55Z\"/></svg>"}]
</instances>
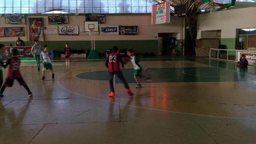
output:
<instances>
[{"instance_id":1,"label":"low black and red banner behind the number 6 player","mask_svg":"<svg viewBox=\"0 0 256 144\"><path fill-rule=\"evenodd\" d=\"M18 50L18 58L33 58L33 55L31 54L31 48L32 47L5 47L5 54L7 57L12 57L12 49Z\"/></svg>"}]
</instances>

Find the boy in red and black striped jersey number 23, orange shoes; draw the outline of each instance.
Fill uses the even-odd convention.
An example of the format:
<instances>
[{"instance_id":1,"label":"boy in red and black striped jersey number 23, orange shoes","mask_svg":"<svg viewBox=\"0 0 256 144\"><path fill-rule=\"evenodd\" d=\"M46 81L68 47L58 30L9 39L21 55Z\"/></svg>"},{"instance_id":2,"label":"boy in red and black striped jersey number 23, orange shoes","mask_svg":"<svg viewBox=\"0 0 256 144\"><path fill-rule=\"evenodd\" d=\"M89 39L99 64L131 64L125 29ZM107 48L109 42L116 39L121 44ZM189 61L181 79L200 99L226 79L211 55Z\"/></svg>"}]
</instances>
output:
<instances>
[{"instance_id":1,"label":"boy in red and black striped jersey number 23, orange shoes","mask_svg":"<svg viewBox=\"0 0 256 144\"><path fill-rule=\"evenodd\" d=\"M128 95L129 96L133 95L133 93L130 90L129 85L127 84L127 82L124 78L120 63L123 68L124 67L123 59L122 59L121 55L118 53L118 47L114 46L112 49L112 53L108 55L107 61L105 63L105 66L108 68L108 82L109 82L109 87L110 87L110 94L108 96L115 96L115 90L114 90L114 86L113 86L114 75L116 75L122 81Z\"/></svg>"}]
</instances>

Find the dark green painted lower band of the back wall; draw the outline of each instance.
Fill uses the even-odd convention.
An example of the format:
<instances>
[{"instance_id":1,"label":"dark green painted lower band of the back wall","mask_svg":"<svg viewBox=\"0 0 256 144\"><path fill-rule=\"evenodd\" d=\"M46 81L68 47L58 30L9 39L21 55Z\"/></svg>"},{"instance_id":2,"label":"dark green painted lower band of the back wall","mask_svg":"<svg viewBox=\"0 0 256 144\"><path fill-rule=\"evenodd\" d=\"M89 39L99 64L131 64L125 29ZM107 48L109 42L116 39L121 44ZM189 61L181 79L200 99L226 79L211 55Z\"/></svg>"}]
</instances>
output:
<instances>
[{"instance_id":1,"label":"dark green painted lower band of the back wall","mask_svg":"<svg viewBox=\"0 0 256 144\"><path fill-rule=\"evenodd\" d=\"M14 42L0 42L5 46ZM34 45L34 42L25 42L28 46ZM65 43L68 43L70 48L81 50L91 49L91 41L46 41L40 42L40 45L48 45L50 50L64 51ZM13 44L14 45L14 44ZM136 53L154 52L158 53L158 40L113 40L113 41L95 41L96 50L103 53L105 50L112 49L113 46L118 46L119 49L134 48Z\"/></svg>"}]
</instances>

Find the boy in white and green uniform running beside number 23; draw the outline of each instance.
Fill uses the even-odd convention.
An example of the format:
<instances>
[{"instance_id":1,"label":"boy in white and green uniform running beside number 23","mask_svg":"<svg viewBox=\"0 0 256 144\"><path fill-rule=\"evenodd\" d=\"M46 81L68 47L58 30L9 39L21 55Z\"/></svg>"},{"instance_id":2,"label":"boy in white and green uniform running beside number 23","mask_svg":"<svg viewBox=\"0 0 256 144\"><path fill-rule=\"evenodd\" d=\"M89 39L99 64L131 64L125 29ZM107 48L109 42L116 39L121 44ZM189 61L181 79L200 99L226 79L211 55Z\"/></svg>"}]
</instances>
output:
<instances>
[{"instance_id":1,"label":"boy in white and green uniform running beside number 23","mask_svg":"<svg viewBox=\"0 0 256 144\"><path fill-rule=\"evenodd\" d=\"M146 78L147 81L151 81L151 77L150 77L150 75L142 75L142 71L145 69L143 68L143 65L141 64L140 59L136 55L134 55L134 51L132 48L129 48L127 50L127 54L130 57L133 68L134 68L134 78L137 82L137 85L135 87L141 88L142 85L140 83L140 78Z\"/></svg>"}]
</instances>

